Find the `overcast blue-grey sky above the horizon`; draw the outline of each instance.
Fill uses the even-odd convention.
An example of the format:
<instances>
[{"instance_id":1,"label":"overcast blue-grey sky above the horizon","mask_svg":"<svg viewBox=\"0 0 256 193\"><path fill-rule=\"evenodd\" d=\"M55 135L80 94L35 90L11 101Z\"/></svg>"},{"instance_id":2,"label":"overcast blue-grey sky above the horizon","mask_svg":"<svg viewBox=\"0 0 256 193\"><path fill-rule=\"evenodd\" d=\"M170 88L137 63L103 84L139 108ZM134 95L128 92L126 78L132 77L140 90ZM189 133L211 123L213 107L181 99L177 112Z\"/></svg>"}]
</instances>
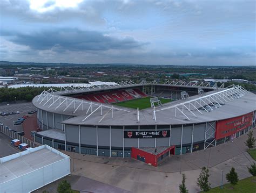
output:
<instances>
[{"instance_id":1,"label":"overcast blue-grey sky above the horizon","mask_svg":"<svg viewBox=\"0 0 256 193\"><path fill-rule=\"evenodd\" d=\"M255 66L255 2L1 0L0 60Z\"/></svg>"}]
</instances>

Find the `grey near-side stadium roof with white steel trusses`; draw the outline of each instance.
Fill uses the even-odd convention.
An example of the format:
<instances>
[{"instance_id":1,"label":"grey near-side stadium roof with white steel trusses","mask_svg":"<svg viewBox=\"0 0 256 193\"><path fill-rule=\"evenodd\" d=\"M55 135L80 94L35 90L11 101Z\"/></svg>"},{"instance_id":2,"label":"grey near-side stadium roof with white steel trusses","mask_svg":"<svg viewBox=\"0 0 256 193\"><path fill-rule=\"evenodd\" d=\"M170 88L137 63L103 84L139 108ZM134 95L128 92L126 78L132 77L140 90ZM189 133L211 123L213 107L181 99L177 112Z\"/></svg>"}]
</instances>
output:
<instances>
[{"instance_id":1,"label":"grey near-side stadium roof with white steel trusses","mask_svg":"<svg viewBox=\"0 0 256 193\"><path fill-rule=\"evenodd\" d=\"M74 92L76 93L76 91ZM210 103L215 103L216 108L207 106ZM64 120L63 123L65 124L176 125L202 123L244 115L256 110L256 97L251 92L234 86L233 88L218 88L218 90L206 92L204 96L195 95L185 101L178 100L166 103L157 109L148 108L139 111L59 96L57 92L44 92L33 99L33 104L45 111L75 116Z\"/></svg>"}]
</instances>

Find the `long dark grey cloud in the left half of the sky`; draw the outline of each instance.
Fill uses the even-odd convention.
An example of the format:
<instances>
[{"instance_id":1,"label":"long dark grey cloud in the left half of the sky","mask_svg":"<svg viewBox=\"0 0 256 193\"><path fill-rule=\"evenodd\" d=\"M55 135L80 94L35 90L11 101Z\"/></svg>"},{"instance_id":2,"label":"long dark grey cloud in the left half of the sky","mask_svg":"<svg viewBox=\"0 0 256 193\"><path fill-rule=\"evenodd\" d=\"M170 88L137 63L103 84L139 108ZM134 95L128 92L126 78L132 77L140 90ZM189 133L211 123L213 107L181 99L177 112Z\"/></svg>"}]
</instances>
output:
<instances>
[{"instance_id":1,"label":"long dark grey cloud in the left half of the sky","mask_svg":"<svg viewBox=\"0 0 256 193\"><path fill-rule=\"evenodd\" d=\"M3 32L3 34L8 34ZM118 39L100 32L80 31L70 28L56 28L55 30L41 31L31 34L10 33L10 41L15 44L29 46L32 49L52 49L55 52L63 51L107 51L109 49L132 49L142 47L141 43L133 38Z\"/></svg>"}]
</instances>

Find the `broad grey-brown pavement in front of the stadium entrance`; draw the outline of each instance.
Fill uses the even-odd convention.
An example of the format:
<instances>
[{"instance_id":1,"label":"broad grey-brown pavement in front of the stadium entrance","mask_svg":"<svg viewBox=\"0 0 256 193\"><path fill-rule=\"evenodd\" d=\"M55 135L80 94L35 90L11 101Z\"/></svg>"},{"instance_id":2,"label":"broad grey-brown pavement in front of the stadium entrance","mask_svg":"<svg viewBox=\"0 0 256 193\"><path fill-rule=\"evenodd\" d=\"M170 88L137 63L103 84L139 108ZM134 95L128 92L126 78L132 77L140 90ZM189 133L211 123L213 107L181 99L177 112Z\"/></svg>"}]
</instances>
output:
<instances>
[{"instance_id":1,"label":"broad grey-brown pavement in front of the stadium entrance","mask_svg":"<svg viewBox=\"0 0 256 193\"><path fill-rule=\"evenodd\" d=\"M256 131L253 130L254 137ZM106 158L64 152L71 156L71 171L74 175L91 178L131 192L179 192L181 174L186 175L189 192L199 192L196 182L202 167L210 170L211 186L221 184L222 170L225 175L234 167L240 179L250 177L247 167L253 159L246 152L244 141L247 134L203 151L172 155L158 167L146 165L134 159ZM85 188L86 189L86 188Z\"/></svg>"}]
</instances>

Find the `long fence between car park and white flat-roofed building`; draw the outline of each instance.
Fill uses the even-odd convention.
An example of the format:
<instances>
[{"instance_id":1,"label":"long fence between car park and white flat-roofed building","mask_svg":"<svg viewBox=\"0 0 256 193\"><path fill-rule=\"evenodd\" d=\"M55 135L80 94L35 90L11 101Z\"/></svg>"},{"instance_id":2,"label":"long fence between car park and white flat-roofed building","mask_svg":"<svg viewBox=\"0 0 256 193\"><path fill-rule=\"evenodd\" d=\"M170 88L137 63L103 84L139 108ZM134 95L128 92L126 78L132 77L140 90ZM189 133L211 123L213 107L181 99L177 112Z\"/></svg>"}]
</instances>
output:
<instances>
[{"instance_id":1,"label":"long fence between car park and white flat-roofed building","mask_svg":"<svg viewBox=\"0 0 256 193\"><path fill-rule=\"evenodd\" d=\"M19 135L17 132L14 132L14 131L10 130L9 128L5 128L3 125L1 125L0 128L1 128L1 130L0 130L1 133L7 135L11 139L18 139L22 143L28 144L29 147L34 148L34 147L41 146L41 144L38 144L37 142L31 141L31 140L23 137L22 135Z\"/></svg>"}]
</instances>

